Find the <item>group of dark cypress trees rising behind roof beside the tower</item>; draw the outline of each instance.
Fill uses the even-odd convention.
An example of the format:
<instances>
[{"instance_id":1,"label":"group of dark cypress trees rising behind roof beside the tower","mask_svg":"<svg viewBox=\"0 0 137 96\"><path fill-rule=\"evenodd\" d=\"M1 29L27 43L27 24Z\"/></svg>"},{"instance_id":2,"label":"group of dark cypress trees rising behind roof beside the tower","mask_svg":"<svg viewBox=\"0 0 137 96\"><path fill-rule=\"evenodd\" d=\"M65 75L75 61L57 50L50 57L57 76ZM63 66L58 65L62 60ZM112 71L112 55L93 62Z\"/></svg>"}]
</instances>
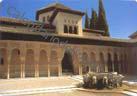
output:
<instances>
[{"instance_id":1,"label":"group of dark cypress trees rising behind roof beside the tower","mask_svg":"<svg viewBox=\"0 0 137 96\"><path fill-rule=\"evenodd\" d=\"M97 15L97 12L95 10L92 10L91 19L89 19L88 14L86 12L85 28L102 30L102 31L104 31L104 34L103 34L104 36L110 36L109 26L107 24L105 9L104 9L102 0L99 0L98 15Z\"/></svg>"}]
</instances>

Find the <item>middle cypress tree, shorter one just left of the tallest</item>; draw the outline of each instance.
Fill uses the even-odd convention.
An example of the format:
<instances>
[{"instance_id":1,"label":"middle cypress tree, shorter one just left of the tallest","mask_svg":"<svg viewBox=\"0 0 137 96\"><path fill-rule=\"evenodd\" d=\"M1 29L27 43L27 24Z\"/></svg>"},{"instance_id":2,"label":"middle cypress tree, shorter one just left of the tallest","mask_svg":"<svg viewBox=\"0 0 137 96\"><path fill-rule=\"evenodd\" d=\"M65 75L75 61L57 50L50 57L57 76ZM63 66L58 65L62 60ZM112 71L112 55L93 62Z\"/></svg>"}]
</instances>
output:
<instances>
[{"instance_id":1,"label":"middle cypress tree, shorter one just left of the tallest","mask_svg":"<svg viewBox=\"0 0 137 96\"><path fill-rule=\"evenodd\" d=\"M92 16L90 19L90 29L96 29L97 28L97 13L95 10L92 10Z\"/></svg>"}]
</instances>

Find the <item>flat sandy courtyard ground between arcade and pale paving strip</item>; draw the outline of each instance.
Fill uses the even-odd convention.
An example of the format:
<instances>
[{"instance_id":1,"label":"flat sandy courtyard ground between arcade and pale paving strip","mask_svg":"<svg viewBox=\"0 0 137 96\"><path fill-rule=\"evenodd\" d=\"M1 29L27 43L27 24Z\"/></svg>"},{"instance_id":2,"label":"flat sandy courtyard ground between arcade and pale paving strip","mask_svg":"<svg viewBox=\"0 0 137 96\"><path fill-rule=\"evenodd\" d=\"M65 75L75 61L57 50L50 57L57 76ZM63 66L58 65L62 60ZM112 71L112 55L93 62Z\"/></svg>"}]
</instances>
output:
<instances>
[{"instance_id":1,"label":"flat sandy courtyard ground between arcade and pale paving strip","mask_svg":"<svg viewBox=\"0 0 137 96\"><path fill-rule=\"evenodd\" d=\"M73 80L70 77L0 80L0 91L57 87L57 86L60 86L60 87L71 86L71 85L75 85L76 83L78 83L78 81Z\"/></svg>"}]
</instances>

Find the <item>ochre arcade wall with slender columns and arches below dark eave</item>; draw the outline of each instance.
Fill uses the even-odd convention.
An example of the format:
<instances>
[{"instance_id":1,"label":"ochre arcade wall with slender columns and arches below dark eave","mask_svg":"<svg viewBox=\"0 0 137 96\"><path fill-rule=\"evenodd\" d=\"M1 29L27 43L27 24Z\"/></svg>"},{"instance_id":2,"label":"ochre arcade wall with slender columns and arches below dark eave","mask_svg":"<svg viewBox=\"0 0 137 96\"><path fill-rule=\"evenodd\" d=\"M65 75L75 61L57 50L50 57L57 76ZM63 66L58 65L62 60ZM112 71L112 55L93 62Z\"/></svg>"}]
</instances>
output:
<instances>
[{"instance_id":1,"label":"ochre arcade wall with slender columns and arches below dark eave","mask_svg":"<svg viewBox=\"0 0 137 96\"><path fill-rule=\"evenodd\" d=\"M85 71L87 66L89 67L89 71L108 72L108 66L110 65L108 64L108 54L110 54L110 59L112 61L112 71L117 70L121 74L133 75L137 74L137 67L135 67L137 66L136 49L136 47L127 48L82 44L59 45L55 43L42 43L34 41L1 40L0 54L4 58L4 64L0 65L0 77L16 78L16 75L13 74L14 72L18 75L17 77L19 78L31 76L61 76L61 62L66 51L70 51L72 54L74 74L84 73L83 71ZM117 57L117 60L115 60L114 54ZM85 59L83 60L83 58ZM27 61L28 59L31 60ZM114 62L116 61L118 69L115 68L116 65ZM30 64L27 62L31 62L32 65L26 65ZM42 63L45 65L42 65ZM25 66L28 67L26 68ZM45 70L42 67L44 67ZM28 70L28 72L31 71L31 74L34 74L34 76L31 74L26 75L26 70ZM43 74L39 70L44 70L43 72L45 73Z\"/></svg>"}]
</instances>

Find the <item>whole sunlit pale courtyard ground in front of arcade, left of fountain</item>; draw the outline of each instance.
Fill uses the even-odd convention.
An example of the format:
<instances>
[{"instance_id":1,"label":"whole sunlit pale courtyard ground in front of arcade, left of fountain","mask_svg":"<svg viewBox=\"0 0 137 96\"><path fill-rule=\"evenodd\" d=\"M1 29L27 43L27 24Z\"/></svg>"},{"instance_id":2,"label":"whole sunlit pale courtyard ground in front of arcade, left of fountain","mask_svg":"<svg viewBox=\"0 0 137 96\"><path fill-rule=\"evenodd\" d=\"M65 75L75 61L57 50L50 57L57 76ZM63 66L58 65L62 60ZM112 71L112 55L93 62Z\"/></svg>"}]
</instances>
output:
<instances>
[{"instance_id":1,"label":"whole sunlit pale courtyard ground in front of arcade, left of fountain","mask_svg":"<svg viewBox=\"0 0 137 96\"><path fill-rule=\"evenodd\" d=\"M126 80L136 80L136 77L129 76L126 77ZM29 92L34 95L20 94L19 96L128 96L118 93L107 94L75 90L75 85L81 81L81 76L0 80L0 96L11 96L11 94L18 96L20 93L30 94Z\"/></svg>"}]
</instances>

